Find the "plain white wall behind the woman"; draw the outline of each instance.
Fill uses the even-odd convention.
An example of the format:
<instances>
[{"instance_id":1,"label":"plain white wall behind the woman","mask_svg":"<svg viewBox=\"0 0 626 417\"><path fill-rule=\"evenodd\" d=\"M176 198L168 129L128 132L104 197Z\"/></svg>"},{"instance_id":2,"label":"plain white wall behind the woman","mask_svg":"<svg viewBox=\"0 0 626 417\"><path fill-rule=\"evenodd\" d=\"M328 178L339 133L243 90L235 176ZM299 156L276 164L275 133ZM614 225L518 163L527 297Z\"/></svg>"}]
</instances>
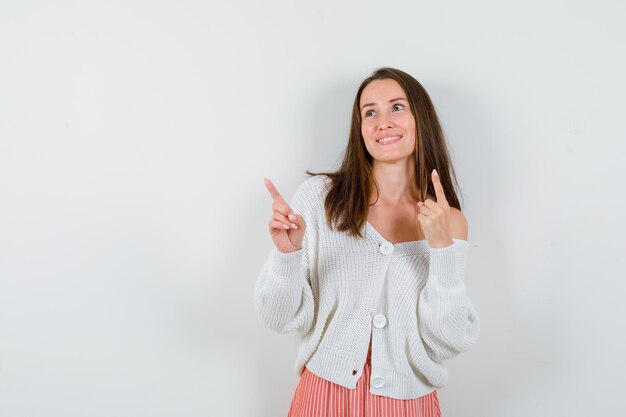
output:
<instances>
[{"instance_id":1,"label":"plain white wall behind the woman","mask_svg":"<svg viewBox=\"0 0 626 417\"><path fill-rule=\"evenodd\" d=\"M625 11L0 2L0 415L286 415L263 177L336 168L379 66L430 93L469 221L444 416L623 414Z\"/></svg>"}]
</instances>

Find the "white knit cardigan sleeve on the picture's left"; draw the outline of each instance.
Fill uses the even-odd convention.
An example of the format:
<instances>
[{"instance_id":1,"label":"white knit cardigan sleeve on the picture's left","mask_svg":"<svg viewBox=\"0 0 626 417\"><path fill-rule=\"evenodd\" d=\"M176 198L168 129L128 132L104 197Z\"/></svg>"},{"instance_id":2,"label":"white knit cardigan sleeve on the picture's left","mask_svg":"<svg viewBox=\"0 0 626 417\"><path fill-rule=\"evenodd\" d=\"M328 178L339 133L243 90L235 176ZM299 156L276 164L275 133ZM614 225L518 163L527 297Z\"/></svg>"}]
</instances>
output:
<instances>
[{"instance_id":1,"label":"white knit cardigan sleeve on the picture's left","mask_svg":"<svg viewBox=\"0 0 626 417\"><path fill-rule=\"evenodd\" d=\"M291 253L272 248L261 267L254 289L254 305L261 322L278 333L298 330L306 334L313 324L314 298L309 272L309 239L314 235L314 218L309 209L313 198L307 192L310 180L296 190L290 203L306 222L300 250Z\"/></svg>"}]
</instances>

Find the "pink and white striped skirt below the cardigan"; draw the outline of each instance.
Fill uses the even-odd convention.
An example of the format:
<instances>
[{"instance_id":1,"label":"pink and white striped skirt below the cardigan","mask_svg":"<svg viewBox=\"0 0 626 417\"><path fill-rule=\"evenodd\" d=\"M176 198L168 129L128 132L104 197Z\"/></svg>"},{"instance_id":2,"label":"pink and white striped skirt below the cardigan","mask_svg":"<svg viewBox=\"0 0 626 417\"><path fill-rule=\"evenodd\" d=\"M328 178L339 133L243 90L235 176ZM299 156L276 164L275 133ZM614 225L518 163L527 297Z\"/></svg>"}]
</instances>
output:
<instances>
[{"instance_id":1,"label":"pink and white striped skirt below the cardigan","mask_svg":"<svg viewBox=\"0 0 626 417\"><path fill-rule=\"evenodd\" d=\"M304 368L287 417L441 417L437 391L411 400L373 395L372 353L356 389L327 381Z\"/></svg>"}]
</instances>

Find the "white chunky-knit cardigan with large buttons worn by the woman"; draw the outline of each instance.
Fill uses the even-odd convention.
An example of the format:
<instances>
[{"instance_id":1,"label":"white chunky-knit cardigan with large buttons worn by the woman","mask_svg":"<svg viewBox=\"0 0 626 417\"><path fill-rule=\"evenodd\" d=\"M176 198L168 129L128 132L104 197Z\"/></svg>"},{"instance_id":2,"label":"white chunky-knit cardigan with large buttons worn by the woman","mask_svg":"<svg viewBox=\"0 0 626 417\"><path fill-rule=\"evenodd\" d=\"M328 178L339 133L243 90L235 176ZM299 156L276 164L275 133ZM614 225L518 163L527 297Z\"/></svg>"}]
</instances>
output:
<instances>
[{"instance_id":1,"label":"white chunky-knit cardigan with large buttons worn by the woman","mask_svg":"<svg viewBox=\"0 0 626 417\"><path fill-rule=\"evenodd\" d=\"M304 180L290 202L306 221L302 249L273 248L254 304L268 328L301 335L295 372L355 389L372 335L370 392L413 399L447 384L442 361L478 340L480 321L465 286L469 243L391 244L366 223L365 237L331 230L324 214L330 179ZM384 326L373 325L384 315Z\"/></svg>"}]
</instances>

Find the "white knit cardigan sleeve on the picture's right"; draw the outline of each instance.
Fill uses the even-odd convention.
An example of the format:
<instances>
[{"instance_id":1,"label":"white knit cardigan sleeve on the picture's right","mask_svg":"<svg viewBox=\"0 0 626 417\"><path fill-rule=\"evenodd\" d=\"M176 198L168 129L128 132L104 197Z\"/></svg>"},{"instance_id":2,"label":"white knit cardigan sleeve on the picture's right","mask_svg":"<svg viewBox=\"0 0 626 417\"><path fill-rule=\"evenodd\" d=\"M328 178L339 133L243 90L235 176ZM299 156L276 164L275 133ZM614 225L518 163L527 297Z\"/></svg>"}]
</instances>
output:
<instances>
[{"instance_id":1,"label":"white knit cardigan sleeve on the picture's right","mask_svg":"<svg viewBox=\"0 0 626 417\"><path fill-rule=\"evenodd\" d=\"M428 279L418 301L420 335L436 362L469 350L480 333L480 320L464 282L469 243L452 240L450 246L430 248Z\"/></svg>"}]
</instances>

